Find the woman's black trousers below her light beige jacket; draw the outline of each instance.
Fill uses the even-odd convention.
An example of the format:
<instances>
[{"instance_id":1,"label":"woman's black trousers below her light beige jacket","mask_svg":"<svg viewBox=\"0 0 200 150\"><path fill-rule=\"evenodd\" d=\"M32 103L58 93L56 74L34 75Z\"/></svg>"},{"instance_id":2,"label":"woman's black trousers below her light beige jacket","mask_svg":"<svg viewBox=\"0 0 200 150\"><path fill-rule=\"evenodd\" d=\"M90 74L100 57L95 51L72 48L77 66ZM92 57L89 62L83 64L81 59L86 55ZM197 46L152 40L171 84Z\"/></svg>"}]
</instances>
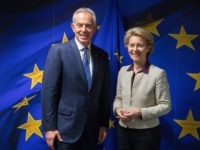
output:
<instances>
[{"instance_id":1,"label":"woman's black trousers below her light beige jacket","mask_svg":"<svg viewBox=\"0 0 200 150\"><path fill-rule=\"evenodd\" d=\"M159 150L160 129L130 129L119 125L119 150Z\"/></svg>"}]
</instances>

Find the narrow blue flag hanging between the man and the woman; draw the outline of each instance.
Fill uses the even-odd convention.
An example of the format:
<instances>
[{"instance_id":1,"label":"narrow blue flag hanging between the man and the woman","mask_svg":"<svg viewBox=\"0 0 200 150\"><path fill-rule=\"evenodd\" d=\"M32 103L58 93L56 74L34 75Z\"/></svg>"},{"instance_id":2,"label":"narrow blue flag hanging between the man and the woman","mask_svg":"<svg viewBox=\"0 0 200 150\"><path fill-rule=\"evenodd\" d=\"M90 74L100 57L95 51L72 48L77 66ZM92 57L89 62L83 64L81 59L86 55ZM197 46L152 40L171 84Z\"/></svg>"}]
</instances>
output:
<instances>
[{"instance_id":1,"label":"narrow blue flag hanging between the man and the woman","mask_svg":"<svg viewBox=\"0 0 200 150\"><path fill-rule=\"evenodd\" d=\"M116 1L111 0L108 10L104 15L102 24L99 27L94 43L106 50L110 60L111 74L111 97L110 97L110 120L108 136L104 142L105 150L117 150L117 124L118 121L112 113L112 104L115 97L116 80L119 68L125 62L130 61L127 57L128 53L123 46L124 29L119 14L119 7ZM123 55L123 56L122 56ZM127 59L125 59L125 57ZM123 63L122 63L123 62Z\"/></svg>"}]
</instances>

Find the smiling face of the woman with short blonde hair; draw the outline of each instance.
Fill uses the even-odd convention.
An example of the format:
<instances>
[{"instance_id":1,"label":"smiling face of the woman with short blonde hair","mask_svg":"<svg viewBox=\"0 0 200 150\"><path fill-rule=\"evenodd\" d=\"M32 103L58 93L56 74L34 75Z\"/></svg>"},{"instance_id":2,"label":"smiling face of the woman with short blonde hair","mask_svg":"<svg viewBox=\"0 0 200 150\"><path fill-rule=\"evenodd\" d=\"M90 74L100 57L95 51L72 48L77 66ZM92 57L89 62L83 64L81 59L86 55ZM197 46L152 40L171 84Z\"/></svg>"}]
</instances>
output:
<instances>
[{"instance_id":1,"label":"smiling face of the woman with short blonde hair","mask_svg":"<svg viewBox=\"0 0 200 150\"><path fill-rule=\"evenodd\" d=\"M134 63L145 63L147 54L151 50L151 46L148 46L142 37L135 35L129 39L127 48L129 56Z\"/></svg>"}]
</instances>

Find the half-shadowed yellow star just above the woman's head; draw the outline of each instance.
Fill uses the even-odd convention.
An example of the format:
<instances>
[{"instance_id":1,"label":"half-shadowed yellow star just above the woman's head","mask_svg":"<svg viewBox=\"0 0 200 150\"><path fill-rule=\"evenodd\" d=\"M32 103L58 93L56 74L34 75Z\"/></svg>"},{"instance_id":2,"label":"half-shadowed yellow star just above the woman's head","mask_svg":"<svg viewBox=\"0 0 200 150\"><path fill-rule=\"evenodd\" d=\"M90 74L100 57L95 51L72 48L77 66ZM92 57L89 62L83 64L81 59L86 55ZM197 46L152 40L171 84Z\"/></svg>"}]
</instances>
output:
<instances>
[{"instance_id":1,"label":"half-shadowed yellow star just above the woman's head","mask_svg":"<svg viewBox=\"0 0 200 150\"><path fill-rule=\"evenodd\" d=\"M160 36L157 26L163 21L163 19L153 20L151 13L147 16L146 20L143 22L137 22L136 24L143 26L149 32Z\"/></svg>"}]
</instances>

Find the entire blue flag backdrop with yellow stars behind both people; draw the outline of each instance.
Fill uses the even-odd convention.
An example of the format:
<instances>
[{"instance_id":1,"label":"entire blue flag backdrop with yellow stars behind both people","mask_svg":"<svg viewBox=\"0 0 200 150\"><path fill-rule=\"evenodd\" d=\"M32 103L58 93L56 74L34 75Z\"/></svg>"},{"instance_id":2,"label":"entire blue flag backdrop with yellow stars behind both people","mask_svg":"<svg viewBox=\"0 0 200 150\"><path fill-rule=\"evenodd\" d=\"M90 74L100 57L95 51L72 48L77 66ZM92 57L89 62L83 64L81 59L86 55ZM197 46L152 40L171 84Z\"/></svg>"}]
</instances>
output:
<instances>
[{"instance_id":1,"label":"entire blue flag backdrop with yellow stars behind both people","mask_svg":"<svg viewBox=\"0 0 200 150\"><path fill-rule=\"evenodd\" d=\"M200 149L197 0L8 2L13 5L0 6L0 149L48 149L41 126L44 63L51 46L73 37L71 17L79 7L96 12L99 29L93 41L110 59L110 127L99 149L117 150L118 124L112 102L118 70L131 63L123 37L133 26L143 26L153 34L155 48L150 62L166 70L170 84L172 110L160 118L160 149Z\"/></svg>"}]
</instances>

